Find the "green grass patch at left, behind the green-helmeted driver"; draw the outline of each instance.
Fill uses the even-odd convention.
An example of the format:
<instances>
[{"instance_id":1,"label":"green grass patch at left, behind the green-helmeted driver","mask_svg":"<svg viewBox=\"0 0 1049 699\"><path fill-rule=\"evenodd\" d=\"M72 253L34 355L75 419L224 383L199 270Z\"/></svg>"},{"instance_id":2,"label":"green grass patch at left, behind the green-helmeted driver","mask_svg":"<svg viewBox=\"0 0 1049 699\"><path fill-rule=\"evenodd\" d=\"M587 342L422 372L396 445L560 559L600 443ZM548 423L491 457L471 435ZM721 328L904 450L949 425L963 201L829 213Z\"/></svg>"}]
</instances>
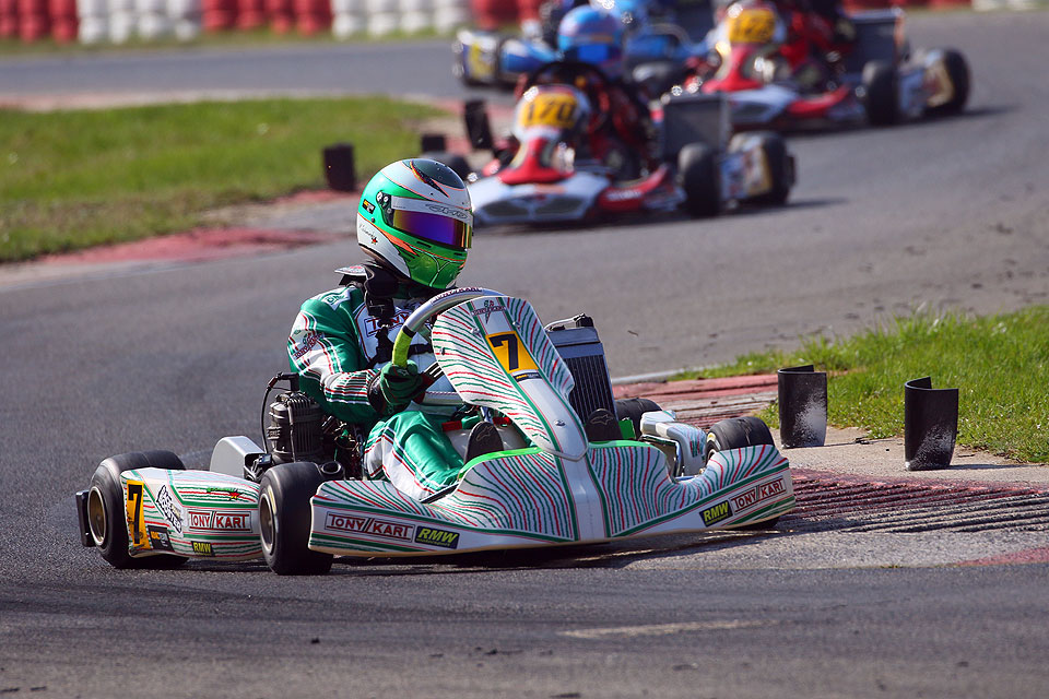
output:
<instances>
[{"instance_id":1,"label":"green grass patch at left, behind the green-helmeted driver","mask_svg":"<svg viewBox=\"0 0 1049 699\"><path fill-rule=\"evenodd\" d=\"M0 110L0 262L192 227L209 208L325 187L321 151L357 177L419 151L438 114L387 98Z\"/></svg>"}]
</instances>

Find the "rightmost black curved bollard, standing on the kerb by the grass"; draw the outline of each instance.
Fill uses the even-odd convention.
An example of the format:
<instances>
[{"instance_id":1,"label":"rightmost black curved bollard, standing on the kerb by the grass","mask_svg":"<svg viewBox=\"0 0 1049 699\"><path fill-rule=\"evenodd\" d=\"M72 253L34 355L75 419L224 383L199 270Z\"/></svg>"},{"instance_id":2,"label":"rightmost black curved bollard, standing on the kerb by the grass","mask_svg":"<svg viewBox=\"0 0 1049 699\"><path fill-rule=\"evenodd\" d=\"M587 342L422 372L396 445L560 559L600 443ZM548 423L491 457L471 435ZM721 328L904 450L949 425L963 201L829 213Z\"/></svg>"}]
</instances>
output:
<instances>
[{"instance_id":1,"label":"rightmost black curved bollard, standing on the kerb by the grass","mask_svg":"<svg viewBox=\"0 0 1049 699\"><path fill-rule=\"evenodd\" d=\"M957 436L958 389L933 389L928 376L904 383L907 471L948 467Z\"/></svg>"}]
</instances>

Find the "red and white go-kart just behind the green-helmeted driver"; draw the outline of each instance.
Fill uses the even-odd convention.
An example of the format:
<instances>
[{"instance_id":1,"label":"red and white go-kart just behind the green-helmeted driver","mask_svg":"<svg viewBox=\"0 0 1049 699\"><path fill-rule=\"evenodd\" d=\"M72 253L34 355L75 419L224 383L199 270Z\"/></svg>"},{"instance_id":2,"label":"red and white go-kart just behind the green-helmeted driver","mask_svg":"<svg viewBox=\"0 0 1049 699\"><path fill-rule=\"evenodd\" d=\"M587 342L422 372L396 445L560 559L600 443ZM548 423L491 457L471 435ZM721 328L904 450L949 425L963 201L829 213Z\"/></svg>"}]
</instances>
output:
<instances>
[{"instance_id":1,"label":"red and white go-kart just behind the green-helmeted driver","mask_svg":"<svg viewBox=\"0 0 1049 699\"><path fill-rule=\"evenodd\" d=\"M615 126L613 87L594 66L547 63L532 73L510 138L495 144L483 103L467 108L467 132L494 157L468 177L475 226L588 222L682 208L695 216L731 203L782 204L794 159L776 133L729 138L719 95L667 95L633 129ZM624 131L626 134L624 135ZM630 141L627 141L630 139ZM427 157L457 163L446 153Z\"/></svg>"}]
</instances>

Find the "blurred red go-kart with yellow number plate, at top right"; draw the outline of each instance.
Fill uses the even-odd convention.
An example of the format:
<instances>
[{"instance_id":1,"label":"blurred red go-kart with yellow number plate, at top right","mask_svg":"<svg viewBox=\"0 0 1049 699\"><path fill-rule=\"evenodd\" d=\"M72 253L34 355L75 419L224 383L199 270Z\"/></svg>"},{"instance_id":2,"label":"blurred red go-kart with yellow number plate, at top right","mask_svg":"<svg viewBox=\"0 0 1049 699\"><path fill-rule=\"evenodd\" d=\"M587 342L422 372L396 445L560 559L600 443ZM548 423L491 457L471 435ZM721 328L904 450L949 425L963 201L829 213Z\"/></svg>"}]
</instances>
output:
<instances>
[{"instance_id":1,"label":"blurred red go-kart with yellow number plate, at top right","mask_svg":"<svg viewBox=\"0 0 1049 699\"><path fill-rule=\"evenodd\" d=\"M911 52L899 9L848 16L844 52L788 57L790 28L767 0L739 0L711 31L714 51L693 66L689 93L727 93L739 129L791 130L836 123L891 125L955 114L969 94L965 57L950 48ZM804 43L803 43L804 44Z\"/></svg>"}]
</instances>

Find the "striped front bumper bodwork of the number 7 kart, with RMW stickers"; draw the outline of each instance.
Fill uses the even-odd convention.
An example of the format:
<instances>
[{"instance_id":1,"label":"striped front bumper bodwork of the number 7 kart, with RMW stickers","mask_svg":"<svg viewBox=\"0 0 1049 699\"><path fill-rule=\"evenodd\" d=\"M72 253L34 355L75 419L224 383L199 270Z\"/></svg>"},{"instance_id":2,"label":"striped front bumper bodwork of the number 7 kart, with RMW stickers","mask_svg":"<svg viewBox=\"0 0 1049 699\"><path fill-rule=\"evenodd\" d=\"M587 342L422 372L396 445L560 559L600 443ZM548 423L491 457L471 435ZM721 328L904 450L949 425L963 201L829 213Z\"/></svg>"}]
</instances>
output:
<instances>
[{"instance_id":1,"label":"striped front bumper bodwork of the number 7 kart, with RMW stickers","mask_svg":"<svg viewBox=\"0 0 1049 699\"><path fill-rule=\"evenodd\" d=\"M731 528L794 502L789 464L771 446L717 453L704 473L676 482L663 454L640 442L592 445L586 463L507 452L432 505L386 482L326 483L311 500L310 548L414 555L602 541ZM453 534L456 548L417 541L434 529Z\"/></svg>"}]
</instances>

